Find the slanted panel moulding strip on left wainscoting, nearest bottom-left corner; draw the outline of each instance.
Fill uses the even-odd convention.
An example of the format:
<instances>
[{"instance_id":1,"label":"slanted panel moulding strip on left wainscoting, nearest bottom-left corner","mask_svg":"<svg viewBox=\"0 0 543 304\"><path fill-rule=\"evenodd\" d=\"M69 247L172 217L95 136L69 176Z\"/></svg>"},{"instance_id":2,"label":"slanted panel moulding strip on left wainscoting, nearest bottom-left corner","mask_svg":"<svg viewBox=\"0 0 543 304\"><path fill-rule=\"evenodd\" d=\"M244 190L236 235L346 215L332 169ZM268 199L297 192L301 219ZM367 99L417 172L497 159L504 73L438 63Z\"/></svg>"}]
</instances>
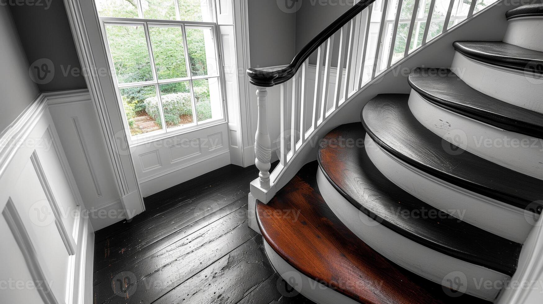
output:
<instances>
[{"instance_id":1,"label":"slanted panel moulding strip on left wainscoting, nearest bottom-left corner","mask_svg":"<svg viewBox=\"0 0 543 304\"><path fill-rule=\"evenodd\" d=\"M41 267L42 263L40 263L40 255L36 252L30 236L24 227L23 221L11 199L9 199L5 205L2 215L8 223L11 234L14 236L22 255L24 256L24 260L27 263L28 270L30 271L36 286L42 287L36 288L41 299L45 304L59 304L59 301L52 292L51 286L49 286L45 271L43 271Z\"/></svg>"}]
</instances>

